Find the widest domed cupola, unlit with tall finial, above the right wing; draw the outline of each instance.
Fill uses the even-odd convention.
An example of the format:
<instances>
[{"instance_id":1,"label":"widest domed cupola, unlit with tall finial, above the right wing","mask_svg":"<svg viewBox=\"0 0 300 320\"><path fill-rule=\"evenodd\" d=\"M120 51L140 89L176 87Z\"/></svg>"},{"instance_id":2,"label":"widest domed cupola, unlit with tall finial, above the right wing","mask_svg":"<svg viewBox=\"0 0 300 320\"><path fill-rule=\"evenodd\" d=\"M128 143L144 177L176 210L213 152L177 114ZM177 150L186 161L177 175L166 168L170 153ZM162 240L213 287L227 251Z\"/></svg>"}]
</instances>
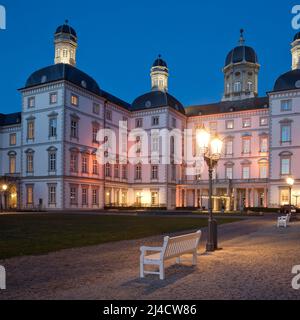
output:
<instances>
[{"instance_id":1,"label":"widest domed cupola, unlit with tall finial, above the right wing","mask_svg":"<svg viewBox=\"0 0 300 320\"><path fill-rule=\"evenodd\" d=\"M258 95L260 65L255 50L245 46L244 30L240 31L239 45L225 60L223 101L243 100Z\"/></svg>"}]
</instances>

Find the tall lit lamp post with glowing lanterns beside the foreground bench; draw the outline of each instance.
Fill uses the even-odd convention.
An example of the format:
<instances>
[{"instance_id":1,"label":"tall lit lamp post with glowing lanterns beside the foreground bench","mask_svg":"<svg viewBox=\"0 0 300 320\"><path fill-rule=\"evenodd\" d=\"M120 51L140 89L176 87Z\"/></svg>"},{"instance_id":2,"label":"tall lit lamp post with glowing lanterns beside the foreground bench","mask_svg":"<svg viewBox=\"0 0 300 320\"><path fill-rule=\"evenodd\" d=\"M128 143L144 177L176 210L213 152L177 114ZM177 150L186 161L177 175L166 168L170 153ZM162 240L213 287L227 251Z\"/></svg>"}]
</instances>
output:
<instances>
[{"instance_id":1,"label":"tall lit lamp post with glowing lanterns beside the foreground bench","mask_svg":"<svg viewBox=\"0 0 300 320\"><path fill-rule=\"evenodd\" d=\"M200 148L201 153L204 156L204 160L208 166L208 177L209 177L209 195L208 195L208 238L206 244L206 251L212 252L218 248L217 243L217 221L213 219L213 204L212 204L212 192L213 192L213 170L218 164L221 157L222 140L216 135L211 137L210 133L203 127L197 130L196 133L197 144Z\"/></svg>"}]
</instances>

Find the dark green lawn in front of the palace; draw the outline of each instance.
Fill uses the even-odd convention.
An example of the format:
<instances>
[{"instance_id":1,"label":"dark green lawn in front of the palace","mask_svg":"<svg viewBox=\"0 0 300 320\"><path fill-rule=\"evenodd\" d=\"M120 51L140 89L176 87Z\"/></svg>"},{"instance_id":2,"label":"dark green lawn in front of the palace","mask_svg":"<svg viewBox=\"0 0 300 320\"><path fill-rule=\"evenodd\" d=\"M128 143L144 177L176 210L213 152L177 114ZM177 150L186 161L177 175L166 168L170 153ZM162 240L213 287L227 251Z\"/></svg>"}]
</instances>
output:
<instances>
[{"instance_id":1,"label":"dark green lawn in front of the palace","mask_svg":"<svg viewBox=\"0 0 300 320\"><path fill-rule=\"evenodd\" d=\"M218 219L218 223L238 220ZM196 230L206 225L206 219L182 217L88 214L2 215L0 216L0 259Z\"/></svg>"}]
</instances>

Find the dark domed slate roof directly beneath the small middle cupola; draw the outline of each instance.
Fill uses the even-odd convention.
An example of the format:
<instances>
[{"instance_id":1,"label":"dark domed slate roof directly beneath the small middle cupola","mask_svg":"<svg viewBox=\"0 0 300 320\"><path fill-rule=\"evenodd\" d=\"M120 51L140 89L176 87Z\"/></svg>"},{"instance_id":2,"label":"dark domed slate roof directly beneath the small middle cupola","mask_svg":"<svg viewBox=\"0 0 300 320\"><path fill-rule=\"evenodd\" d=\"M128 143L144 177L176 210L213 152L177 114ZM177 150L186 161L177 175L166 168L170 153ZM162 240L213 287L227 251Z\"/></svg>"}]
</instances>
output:
<instances>
[{"instance_id":1,"label":"dark domed slate roof directly beneath the small middle cupola","mask_svg":"<svg viewBox=\"0 0 300 320\"><path fill-rule=\"evenodd\" d=\"M185 114L183 105L176 98L167 92L158 90L148 92L135 99L130 110L139 111L167 106Z\"/></svg>"}]
</instances>

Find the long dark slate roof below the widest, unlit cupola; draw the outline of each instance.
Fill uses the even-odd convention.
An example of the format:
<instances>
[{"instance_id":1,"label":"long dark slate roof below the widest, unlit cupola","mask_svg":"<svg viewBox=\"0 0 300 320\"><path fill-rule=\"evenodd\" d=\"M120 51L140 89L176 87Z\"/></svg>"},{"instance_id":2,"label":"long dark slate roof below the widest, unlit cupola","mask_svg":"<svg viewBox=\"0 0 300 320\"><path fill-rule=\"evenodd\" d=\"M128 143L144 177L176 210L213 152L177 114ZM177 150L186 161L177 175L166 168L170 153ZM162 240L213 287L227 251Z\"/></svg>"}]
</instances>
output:
<instances>
[{"instance_id":1,"label":"long dark slate roof below the widest, unlit cupola","mask_svg":"<svg viewBox=\"0 0 300 320\"><path fill-rule=\"evenodd\" d=\"M189 117L199 115L213 115L219 113L232 113L238 111L265 109L269 107L268 97L252 98L238 101L224 101L207 105L191 106L185 109Z\"/></svg>"}]
</instances>

